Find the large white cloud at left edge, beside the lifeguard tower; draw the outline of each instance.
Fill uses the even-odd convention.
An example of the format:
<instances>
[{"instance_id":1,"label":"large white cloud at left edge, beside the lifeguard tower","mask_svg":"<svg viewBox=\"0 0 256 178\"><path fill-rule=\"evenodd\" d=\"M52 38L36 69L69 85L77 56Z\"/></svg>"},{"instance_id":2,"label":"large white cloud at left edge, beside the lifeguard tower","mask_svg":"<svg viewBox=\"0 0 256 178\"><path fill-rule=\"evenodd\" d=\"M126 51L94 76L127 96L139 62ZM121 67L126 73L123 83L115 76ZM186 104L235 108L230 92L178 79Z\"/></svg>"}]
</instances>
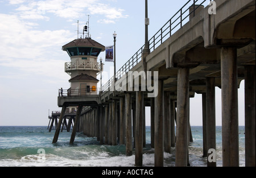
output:
<instances>
[{"instance_id":1,"label":"large white cloud at left edge, beside the lifeguard tower","mask_svg":"<svg viewBox=\"0 0 256 178\"><path fill-rule=\"evenodd\" d=\"M68 37L71 32L36 31L31 25L34 24L23 23L16 15L0 14L0 67L52 78L63 77L64 61L59 57L62 56L61 46L73 39L63 36Z\"/></svg>"}]
</instances>

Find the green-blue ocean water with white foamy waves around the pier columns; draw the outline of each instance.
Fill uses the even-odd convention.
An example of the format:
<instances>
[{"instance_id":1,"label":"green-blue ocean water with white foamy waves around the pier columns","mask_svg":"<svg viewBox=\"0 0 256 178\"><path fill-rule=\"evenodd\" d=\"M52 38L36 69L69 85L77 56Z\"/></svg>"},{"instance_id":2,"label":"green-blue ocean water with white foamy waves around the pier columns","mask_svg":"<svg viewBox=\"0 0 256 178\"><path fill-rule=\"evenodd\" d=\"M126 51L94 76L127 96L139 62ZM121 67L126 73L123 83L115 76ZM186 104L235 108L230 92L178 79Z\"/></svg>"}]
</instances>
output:
<instances>
[{"instance_id":1,"label":"green-blue ocean water with white foamy waves around the pier columns","mask_svg":"<svg viewBox=\"0 0 256 178\"><path fill-rule=\"evenodd\" d=\"M189 143L191 167L207 166L203 156L203 131L192 126L193 142ZM244 126L239 127L240 166L245 166ZM47 126L0 126L0 167L133 167L133 155L126 157L125 146L100 145L97 138L77 133L69 145L71 132L60 133L58 142L52 144L55 130ZM143 148L143 166L154 166L154 149L150 147L150 126L146 127L146 148ZM216 127L217 166L222 166L221 127ZM171 154L164 152L164 166L175 166L175 148Z\"/></svg>"}]
</instances>

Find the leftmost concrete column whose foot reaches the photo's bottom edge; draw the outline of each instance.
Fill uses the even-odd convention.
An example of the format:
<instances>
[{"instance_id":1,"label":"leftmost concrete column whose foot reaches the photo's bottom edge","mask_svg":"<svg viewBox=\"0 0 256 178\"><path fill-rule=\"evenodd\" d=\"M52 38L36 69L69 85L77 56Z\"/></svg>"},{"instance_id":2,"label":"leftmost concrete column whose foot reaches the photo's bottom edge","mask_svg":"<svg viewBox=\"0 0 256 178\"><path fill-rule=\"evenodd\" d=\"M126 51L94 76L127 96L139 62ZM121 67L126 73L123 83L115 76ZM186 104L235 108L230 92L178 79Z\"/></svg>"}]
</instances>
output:
<instances>
[{"instance_id":1,"label":"leftmost concrete column whose foot reaches the photo's bottom edge","mask_svg":"<svg viewBox=\"0 0 256 178\"><path fill-rule=\"evenodd\" d=\"M142 166L143 155L143 92L136 92L135 166Z\"/></svg>"}]
</instances>

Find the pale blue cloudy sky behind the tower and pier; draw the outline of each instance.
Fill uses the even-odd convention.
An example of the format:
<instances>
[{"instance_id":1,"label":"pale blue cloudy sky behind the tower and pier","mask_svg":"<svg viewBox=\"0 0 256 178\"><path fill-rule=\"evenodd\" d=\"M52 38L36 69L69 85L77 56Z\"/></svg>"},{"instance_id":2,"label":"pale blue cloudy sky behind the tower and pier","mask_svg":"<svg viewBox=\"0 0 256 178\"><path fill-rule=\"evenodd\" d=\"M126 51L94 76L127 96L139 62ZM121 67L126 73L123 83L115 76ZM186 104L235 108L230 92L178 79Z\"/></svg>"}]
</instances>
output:
<instances>
[{"instance_id":1,"label":"pale blue cloudy sky behind the tower and pier","mask_svg":"<svg viewBox=\"0 0 256 178\"><path fill-rule=\"evenodd\" d=\"M187 0L148 0L150 39ZM0 0L0 126L47 126L57 106L58 90L68 89L63 45L77 39L88 22L91 38L113 45L117 33L117 70L144 44L143 0ZM79 34L79 37L82 34ZM104 60L104 84L113 63ZM244 125L243 81L238 90L239 125ZM191 98L190 122L202 125L201 95ZM146 109L146 125L150 125ZM221 125L221 90L216 88L216 125Z\"/></svg>"}]
</instances>

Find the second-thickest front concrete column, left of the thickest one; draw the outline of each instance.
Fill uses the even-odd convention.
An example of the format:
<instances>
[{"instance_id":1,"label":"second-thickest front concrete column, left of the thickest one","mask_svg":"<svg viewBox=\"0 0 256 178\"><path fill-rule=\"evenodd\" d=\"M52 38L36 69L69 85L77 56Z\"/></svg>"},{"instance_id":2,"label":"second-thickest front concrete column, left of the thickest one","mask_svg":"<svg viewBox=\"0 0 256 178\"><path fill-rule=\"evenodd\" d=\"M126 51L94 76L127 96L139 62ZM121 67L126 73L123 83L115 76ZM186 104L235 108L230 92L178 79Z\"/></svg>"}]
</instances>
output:
<instances>
[{"instance_id":1,"label":"second-thickest front concrete column, left of the thickest one","mask_svg":"<svg viewBox=\"0 0 256 178\"><path fill-rule=\"evenodd\" d=\"M177 73L177 140L175 165L187 166L188 156L188 102L189 68L179 68Z\"/></svg>"}]
</instances>

